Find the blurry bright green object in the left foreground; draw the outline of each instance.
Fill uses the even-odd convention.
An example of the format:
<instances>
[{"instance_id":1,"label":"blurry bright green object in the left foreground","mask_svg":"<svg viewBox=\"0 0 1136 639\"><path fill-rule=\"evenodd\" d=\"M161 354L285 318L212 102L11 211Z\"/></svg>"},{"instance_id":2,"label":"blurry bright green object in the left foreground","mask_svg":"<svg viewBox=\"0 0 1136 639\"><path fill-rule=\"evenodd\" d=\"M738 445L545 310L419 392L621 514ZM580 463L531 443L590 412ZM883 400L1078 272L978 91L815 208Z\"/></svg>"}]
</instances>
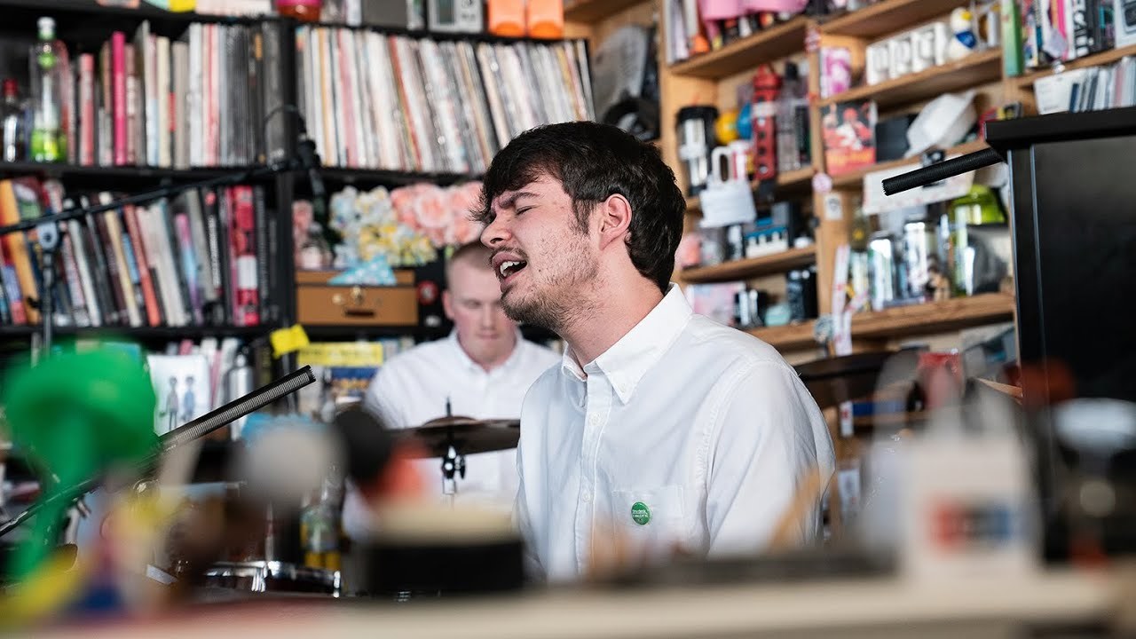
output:
<instances>
[{"instance_id":1,"label":"blurry bright green object in the left foreground","mask_svg":"<svg viewBox=\"0 0 1136 639\"><path fill-rule=\"evenodd\" d=\"M135 358L112 348L61 352L12 371L3 389L12 443L56 481L41 499L100 471L142 462L158 448L150 375ZM31 540L17 556L16 574L33 570L55 542L67 508L35 517Z\"/></svg>"}]
</instances>

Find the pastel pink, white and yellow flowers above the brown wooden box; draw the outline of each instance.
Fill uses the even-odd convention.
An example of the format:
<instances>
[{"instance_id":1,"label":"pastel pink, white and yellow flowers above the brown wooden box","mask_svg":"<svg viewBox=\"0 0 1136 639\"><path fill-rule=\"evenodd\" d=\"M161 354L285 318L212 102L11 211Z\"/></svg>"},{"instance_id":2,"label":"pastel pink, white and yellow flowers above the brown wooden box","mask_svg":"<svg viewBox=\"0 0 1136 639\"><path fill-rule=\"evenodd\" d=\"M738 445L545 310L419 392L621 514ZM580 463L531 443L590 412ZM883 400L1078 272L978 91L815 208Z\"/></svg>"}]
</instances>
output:
<instances>
[{"instance_id":1,"label":"pastel pink, white and yellow flowers above the brown wooden box","mask_svg":"<svg viewBox=\"0 0 1136 639\"><path fill-rule=\"evenodd\" d=\"M383 256L392 267L421 266L438 249L477 239L481 226L469 219L481 183L442 188L411 184L387 191L346 186L332 196L328 226L342 235L335 267L350 268Z\"/></svg>"}]
</instances>

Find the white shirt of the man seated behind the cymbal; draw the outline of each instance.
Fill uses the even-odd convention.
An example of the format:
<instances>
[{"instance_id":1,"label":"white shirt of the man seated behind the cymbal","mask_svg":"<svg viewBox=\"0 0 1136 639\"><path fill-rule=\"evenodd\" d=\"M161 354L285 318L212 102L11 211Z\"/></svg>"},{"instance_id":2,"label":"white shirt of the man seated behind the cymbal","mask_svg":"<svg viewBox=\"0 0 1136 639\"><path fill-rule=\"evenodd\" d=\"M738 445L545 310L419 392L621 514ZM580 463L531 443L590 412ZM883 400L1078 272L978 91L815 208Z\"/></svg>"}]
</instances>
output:
<instances>
[{"instance_id":1,"label":"white shirt of the man seated behind the cymbal","mask_svg":"<svg viewBox=\"0 0 1136 639\"><path fill-rule=\"evenodd\" d=\"M365 398L392 429L420 426L453 415L475 420L517 420L533 381L560 360L559 354L517 332L517 346L500 366L486 372L466 355L457 332L392 357L379 368ZM460 451L459 451L460 453ZM427 487L442 495L441 458L416 464ZM458 499L511 507L517 493L517 450L466 455L466 476L458 479Z\"/></svg>"}]
</instances>

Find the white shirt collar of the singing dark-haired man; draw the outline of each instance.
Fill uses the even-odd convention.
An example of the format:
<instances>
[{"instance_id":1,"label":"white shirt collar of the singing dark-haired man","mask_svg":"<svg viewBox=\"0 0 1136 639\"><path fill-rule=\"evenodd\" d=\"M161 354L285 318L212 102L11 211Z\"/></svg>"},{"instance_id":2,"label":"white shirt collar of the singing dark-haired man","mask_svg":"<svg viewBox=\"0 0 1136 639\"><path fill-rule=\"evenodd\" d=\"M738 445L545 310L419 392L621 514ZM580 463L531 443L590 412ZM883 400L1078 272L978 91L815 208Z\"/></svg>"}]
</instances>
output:
<instances>
[{"instance_id":1,"label":"white shirt collar of the singing dark-haired man","mask_svg":"<svg viewBox=\"0 0 1136 639\"><path fill-rule=\"evenodd\" d=\"M620 401L627 404L643 375L662 357L690 322L690 304L677 284L671 283L662 300L615 345L594 362L580 368L570 346L565 346L561 370L583 381L586 374L602 372Z\"/></svg>"}]
</instances>

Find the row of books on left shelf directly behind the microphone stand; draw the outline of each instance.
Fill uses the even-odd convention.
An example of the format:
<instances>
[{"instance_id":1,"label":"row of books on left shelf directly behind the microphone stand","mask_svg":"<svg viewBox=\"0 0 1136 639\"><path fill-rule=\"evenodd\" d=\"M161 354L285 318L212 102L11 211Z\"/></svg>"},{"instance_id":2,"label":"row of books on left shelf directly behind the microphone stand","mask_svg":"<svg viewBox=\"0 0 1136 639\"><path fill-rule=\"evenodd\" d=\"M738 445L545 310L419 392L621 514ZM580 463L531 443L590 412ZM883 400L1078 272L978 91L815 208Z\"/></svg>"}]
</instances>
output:
<instances>
[{"instance_id":1,"label":"row of books on left shelf directly behind the microphone stand","mask_svg":"<svg viewBox=\"0 0 1136 639\"><path fill-rule=\"evenodd\" d=\"M0 181L0 224L114 201L58 181ZM50 294L59 326L258 326L278 318L269 285L276 216L261 186L185 191L58 225ZM36 232L0 241L0 324L37 324L44 294ZM33 302L34 300L34 302Z\"/></svg>"}]
</instances>

